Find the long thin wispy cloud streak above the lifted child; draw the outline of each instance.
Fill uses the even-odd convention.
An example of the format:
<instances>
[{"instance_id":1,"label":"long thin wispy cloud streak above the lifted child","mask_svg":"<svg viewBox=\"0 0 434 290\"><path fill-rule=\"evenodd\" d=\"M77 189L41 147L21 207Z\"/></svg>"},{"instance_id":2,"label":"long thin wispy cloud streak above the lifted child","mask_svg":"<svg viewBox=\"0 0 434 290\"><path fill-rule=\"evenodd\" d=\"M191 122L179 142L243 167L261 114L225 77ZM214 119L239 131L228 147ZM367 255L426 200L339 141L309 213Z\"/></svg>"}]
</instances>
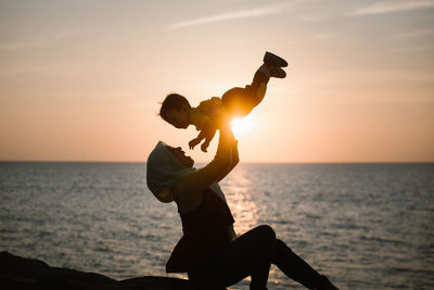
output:
<instances>
[{"instance_id":1,"label":"long thin wispy cloud streak above the lifted child","mask_svg":"<svg viewBox=\"0 0 434 290\"><path fill-rule=\"evenodd\" d=\"M273 5L273 7L257 8L257 9L252 9L252 10L242 10L242 11L233 11L233 12L227 12L227 13L221 13L221 14L215 14L215 15L209 15L206 17L174 23L174 24L169 25L169 28L177 29L177 28L182 28L182 27L188 27L188 26L195 26L195 25L215 23L215 22L224 22L224 21L229 21L229 20L261 17L261 16L267 16L267 15L271 15L271 14L278 14L282 11L282 8L284 8L285 5L286 4L279 4L279 5Z\"/></svg>"}]
</instances>

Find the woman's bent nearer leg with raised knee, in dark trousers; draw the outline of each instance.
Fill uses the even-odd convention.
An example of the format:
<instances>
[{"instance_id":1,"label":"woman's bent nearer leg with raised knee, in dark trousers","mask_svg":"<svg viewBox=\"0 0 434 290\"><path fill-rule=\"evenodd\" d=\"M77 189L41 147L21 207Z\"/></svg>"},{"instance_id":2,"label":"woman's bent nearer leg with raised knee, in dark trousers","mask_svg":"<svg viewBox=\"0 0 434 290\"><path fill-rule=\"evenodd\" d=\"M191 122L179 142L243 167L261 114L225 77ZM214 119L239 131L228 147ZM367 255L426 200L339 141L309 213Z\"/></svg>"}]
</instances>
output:
<instances>
[{"instance_id":1,"label":"woman's bent nearer leg with raised knee, in dark trousers","mask_svg":"<svg viewBox=\"0 0 434 290\"><path fill-rule=\"evenodd\" d=\"M196 283L228 287L251 276L251 289L267 289L275 245L272 228L256 227L230 242L204 268L189 273L189 278Z\"/></svg>"}]
</instances>

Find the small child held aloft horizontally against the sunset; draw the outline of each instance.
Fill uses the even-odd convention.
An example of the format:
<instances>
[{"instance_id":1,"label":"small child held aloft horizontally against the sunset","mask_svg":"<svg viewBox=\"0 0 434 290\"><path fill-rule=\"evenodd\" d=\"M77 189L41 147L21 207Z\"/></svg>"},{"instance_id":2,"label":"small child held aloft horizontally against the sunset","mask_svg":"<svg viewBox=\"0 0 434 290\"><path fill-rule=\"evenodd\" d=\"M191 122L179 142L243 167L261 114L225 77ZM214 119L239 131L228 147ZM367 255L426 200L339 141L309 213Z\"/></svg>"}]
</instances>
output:
<instances>
[{"instance_id":1,"label":"small child held aloft horizontally against the sunset","mask_svg":"<svg viewBox=\"0 0 434 290\"><path fill-rule=\"evenodd\" d=\"M189 147L194 149L205 139L201 150L206 152L224 119L247 115L263 101L270 77L284 78L286 76L281 67L288 66L288 62L282 58L266 52L263 61L252 84L245 88L232 88L225 92L221 99L213 97L202 101L196 108L192 108L186 97L170 93L162 103L159 116L176 128L186 129L194 125L200 133L189 142Z\"/></svg>"}]
</instances>

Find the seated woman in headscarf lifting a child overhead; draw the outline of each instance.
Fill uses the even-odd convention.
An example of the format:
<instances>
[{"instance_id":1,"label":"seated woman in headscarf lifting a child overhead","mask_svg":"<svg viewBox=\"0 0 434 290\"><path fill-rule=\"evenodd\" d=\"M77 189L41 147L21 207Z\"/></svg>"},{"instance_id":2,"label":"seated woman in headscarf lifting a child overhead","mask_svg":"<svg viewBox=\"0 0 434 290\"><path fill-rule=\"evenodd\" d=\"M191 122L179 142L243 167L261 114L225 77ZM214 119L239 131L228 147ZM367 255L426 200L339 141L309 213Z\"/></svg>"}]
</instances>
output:
<instances>
[{"instance_id":1,"label":"seated woman in headscarf lifting a child overhead","mask_svg":"<svg viewBox=\"0 0 434 290\"><path fill-rule=\"evenodd\" d=\"M238 141L222 124L217 153L201 169L181 148L159 141L148 157L146 180L162 202L175 201L183 236L167 264L168 273L188 273L203 289L209 283L228 287L251 276L251 289L267 289L268 273L276 264L288 277L309 289L336 289L318 274L269 226L258 226L237 238L231 211L218 186L238 164Z\"/></svg>"}]
</instances>

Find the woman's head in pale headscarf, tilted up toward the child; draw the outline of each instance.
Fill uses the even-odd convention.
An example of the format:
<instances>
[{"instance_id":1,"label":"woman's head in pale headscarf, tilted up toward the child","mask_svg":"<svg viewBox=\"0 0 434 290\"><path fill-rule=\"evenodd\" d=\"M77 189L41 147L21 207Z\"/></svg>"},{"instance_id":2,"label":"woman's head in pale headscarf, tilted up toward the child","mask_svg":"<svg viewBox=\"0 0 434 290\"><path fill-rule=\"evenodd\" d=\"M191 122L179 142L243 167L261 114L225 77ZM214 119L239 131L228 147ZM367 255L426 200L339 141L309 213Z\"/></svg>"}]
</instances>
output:
<instances>
[{"instance_id":1,"label":"woman's head in pale headscarf, tilted up toward the child","mask_svg":"<svg viewBox=\"0 0 434 290\"><path fill-rule=\"evenodd\" d=\"M151 192L162 202L174 201L171 188L186 175L195 172L194 161L180 147L159 141L148 157L146 182Z\"/></svg>"}]
</instances>

